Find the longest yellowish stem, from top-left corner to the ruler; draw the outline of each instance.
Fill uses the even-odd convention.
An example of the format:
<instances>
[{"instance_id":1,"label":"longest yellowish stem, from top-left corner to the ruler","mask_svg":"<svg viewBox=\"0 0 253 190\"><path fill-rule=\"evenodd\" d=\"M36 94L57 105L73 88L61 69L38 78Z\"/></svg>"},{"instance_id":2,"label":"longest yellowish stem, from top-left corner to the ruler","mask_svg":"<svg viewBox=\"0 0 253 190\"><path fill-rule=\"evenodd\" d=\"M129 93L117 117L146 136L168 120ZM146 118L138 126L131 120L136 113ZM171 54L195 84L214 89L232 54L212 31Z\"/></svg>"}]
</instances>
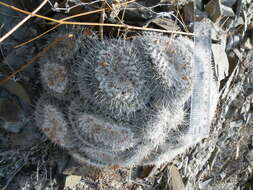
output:
<instances>
[{"instance_id":1,"label":"longest yellowish stem, from top-left corner to the ruler","mask_svg":"<svg viewBox=\"0 0 253 190\"><path fill-rule=\"evenodd\" d=\"M0 5L4 5L8 8L14 9L14 10L19 11L19 12L24 13L24 14L32 14L28 11L24 11L22 9L19 9L19 8L11 6L11 5L8 5L8 4L3 3L3 2L0 2ZM127 28L127 29L133 29L133 30L144 30L144 31L153 31L153 32L162 32L162 33L172 33L172 34L181 34L181 35L194 36L194 33L161 30L161 29L155 29L155 28L143 28L143 27L138 27L138 26L126 25L126 24L110 24L110 23L101 24L101 23L94 23L94 22L68 22L68 21L56 20L56 19L53 19L53 18L49 18L49 17L46 17L46 16L39 15L39 14L32 14L32 16L43 18L45 20L49 20L49 21L56 22L56 23L59 23L59 24L67 24L67 25L111 26L111 27Z\"/></svg>"}]
</instances>

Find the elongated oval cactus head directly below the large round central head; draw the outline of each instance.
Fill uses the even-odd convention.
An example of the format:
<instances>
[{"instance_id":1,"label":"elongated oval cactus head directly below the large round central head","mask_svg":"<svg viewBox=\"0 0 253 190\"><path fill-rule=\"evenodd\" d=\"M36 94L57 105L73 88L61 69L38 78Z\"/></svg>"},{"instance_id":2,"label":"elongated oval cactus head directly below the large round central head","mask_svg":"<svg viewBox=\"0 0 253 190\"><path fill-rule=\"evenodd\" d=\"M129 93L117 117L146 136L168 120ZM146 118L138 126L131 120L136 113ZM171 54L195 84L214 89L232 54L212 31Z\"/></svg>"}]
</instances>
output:
<instances>
[{"instance_id":1,"label":"elongated oval cactus head directly below the large round central head","mask_svg":"<svg viewBox=\"0 0 253 190\"><path fill-rule=\"evenodd\" d=\"M135 145L134 133L130 128L103 119L98 114L88 113L73 101L69 107L69 119L76 136L87 146L98 150L124 151Z\"/></svg>"}]
</instances>

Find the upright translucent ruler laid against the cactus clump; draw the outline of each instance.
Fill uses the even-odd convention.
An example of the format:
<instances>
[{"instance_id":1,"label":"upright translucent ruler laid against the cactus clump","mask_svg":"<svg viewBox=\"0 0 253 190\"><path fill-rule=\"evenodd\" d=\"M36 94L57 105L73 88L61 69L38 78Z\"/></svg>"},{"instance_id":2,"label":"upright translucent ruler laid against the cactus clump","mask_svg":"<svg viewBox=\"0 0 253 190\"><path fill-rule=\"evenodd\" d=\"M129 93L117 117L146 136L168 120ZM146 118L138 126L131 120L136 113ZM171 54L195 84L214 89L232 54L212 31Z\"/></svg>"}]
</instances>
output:
<instances>
[{"instance_id":1,"label":"upright translucent ruler laid against the cactus clump","mask_svg":"<svg viewBox=\"0 0 253 190\"><path fill-rule=\"evenodd\" d=\"M214 84L210 26L203 22L195 22L194 34L193 90L190 127L187 134L187 140L192 143L209 135L213 112L211 90Z\"/></svg>"}]
</instances>

